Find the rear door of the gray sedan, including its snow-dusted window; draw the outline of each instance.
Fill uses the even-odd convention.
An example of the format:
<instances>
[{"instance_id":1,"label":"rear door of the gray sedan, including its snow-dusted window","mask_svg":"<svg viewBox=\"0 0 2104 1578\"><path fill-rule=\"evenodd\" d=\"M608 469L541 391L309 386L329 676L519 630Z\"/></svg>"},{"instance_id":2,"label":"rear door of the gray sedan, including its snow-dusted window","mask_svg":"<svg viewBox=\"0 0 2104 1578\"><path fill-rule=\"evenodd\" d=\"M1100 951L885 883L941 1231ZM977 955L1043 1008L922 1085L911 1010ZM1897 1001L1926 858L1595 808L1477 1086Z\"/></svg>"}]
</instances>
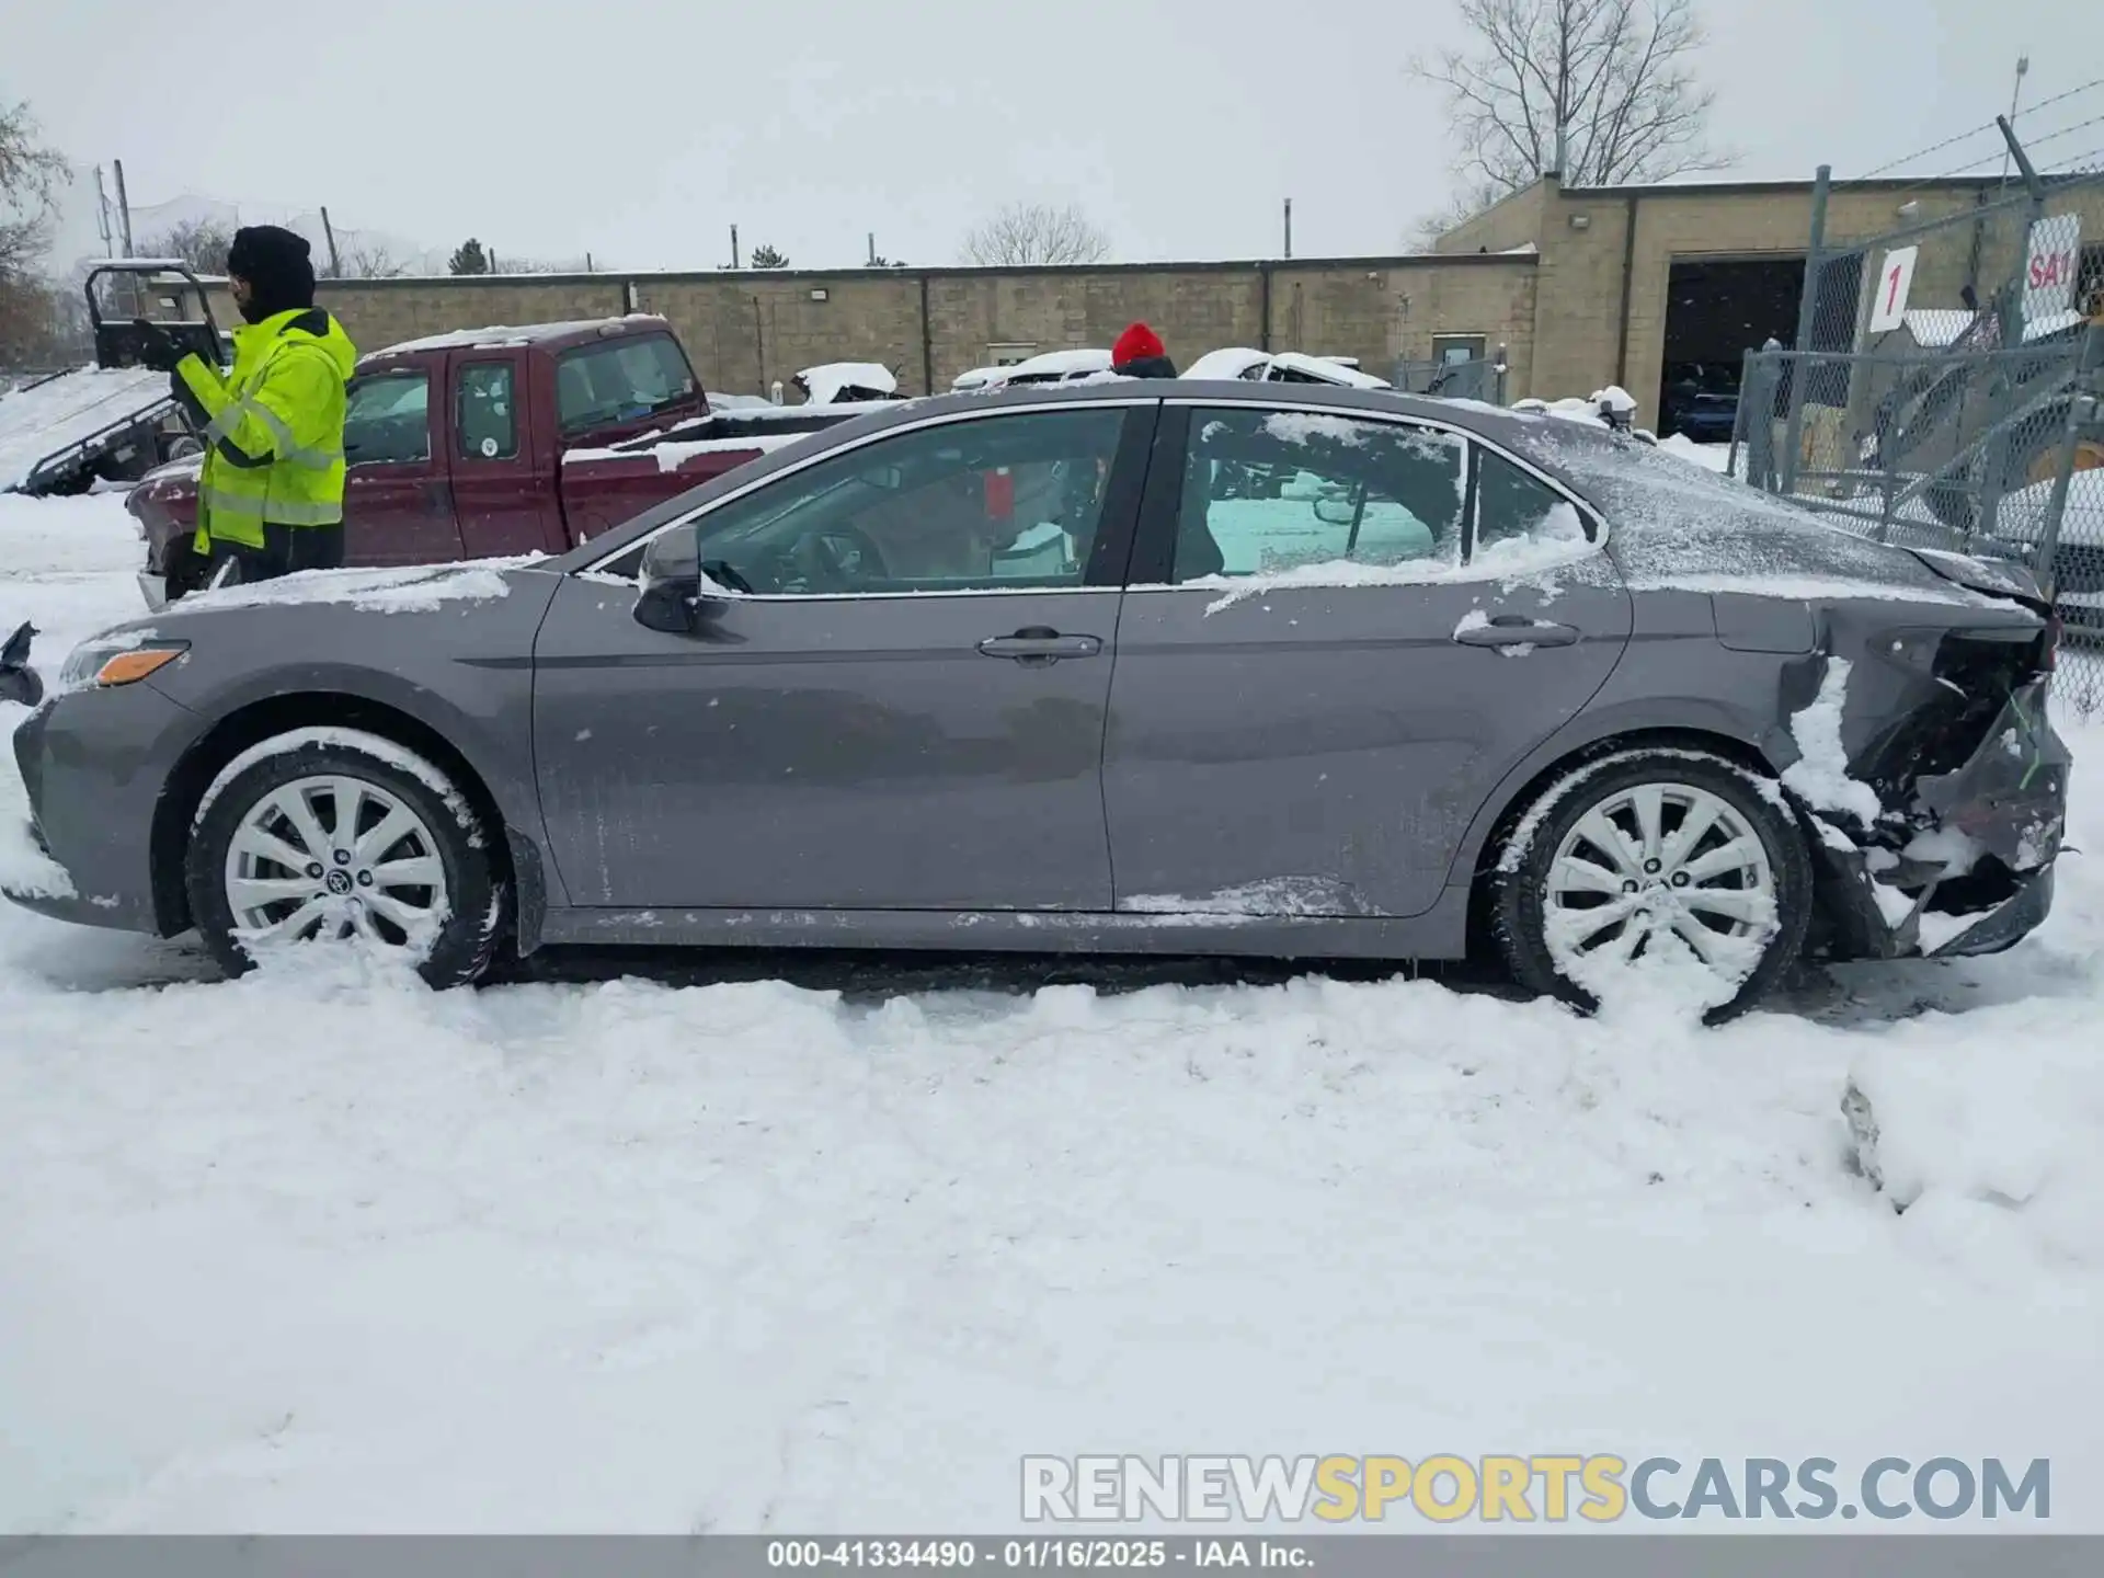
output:
<instances>
[{"instance_id":1,"label":"rear door of the gray sedan, including its snow-dusted window","mask_svg":"<svg viewBox=\"0 0 2104 1578\"><path fill-rule=\"evenodd\" d=\"M1159 444L1105 745L1117 907L1424 913L1628 642L1589 515L1336 408L1172 404Z\"/></svg>"}]
</instances>

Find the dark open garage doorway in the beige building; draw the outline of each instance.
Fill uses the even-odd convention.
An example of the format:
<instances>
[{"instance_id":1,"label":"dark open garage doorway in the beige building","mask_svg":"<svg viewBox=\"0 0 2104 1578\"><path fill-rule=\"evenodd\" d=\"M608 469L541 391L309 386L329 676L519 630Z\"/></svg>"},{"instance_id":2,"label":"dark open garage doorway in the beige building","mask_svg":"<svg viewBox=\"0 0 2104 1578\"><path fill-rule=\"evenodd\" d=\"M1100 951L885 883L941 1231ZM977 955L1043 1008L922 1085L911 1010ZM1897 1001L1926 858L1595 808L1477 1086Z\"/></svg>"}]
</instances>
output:
<instances>
[{"instance_id":1,"label":"dark open garage doorway in the beige building","mask_svg":"<svg viewBox=\"0 0 2104 1578\"><path fill-rule=\"evenodd\" d=\"M1797 337L1803 257L1694 259L1666 278L1666 347L1658 433L1725 444L1738 417L1746 351Z\"/></svg>"}]
</instances>

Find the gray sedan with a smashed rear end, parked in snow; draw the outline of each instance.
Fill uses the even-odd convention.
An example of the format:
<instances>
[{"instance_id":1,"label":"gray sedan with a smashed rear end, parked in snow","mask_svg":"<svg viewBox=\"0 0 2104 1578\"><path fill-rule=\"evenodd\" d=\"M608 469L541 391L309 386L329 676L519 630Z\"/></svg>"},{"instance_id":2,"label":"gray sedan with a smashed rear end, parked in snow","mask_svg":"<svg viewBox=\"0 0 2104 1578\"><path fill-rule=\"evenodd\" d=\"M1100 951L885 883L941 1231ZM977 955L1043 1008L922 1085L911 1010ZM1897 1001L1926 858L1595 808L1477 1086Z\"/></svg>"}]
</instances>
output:
<instances>
[{"instance_id":1,"label":"gray sedan with a smashed rear end, parked in snow","mask_svg":"<svg viewBox=\"0 0 2104 1578\"><path fill-rule=\"evenodd\" d=\"M1452 959L1736 1012L2051 896L2058 631L1624 436L1389 391L903 402L560 560L320 572L74 652L13 894L364 938Z\"/></svg>"}]
</instances>

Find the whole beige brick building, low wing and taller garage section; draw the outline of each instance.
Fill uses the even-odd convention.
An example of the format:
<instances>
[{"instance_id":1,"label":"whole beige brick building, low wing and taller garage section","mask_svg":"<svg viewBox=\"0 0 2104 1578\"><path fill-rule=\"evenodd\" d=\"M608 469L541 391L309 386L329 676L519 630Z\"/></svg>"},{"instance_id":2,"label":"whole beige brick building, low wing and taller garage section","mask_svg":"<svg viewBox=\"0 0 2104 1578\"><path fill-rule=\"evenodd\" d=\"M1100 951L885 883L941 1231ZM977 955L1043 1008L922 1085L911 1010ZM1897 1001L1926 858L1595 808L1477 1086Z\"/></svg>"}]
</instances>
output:
<instances>
[{"instance_id":1,"label":"whole beige brick building, low wing and taller garage section","mask_svg":"<svg viewBox=\"0 0 2104 1578\"><path fill-rule=\"evenodd\" d=\"M1845 183L1828 238L1875 238L1997 196L1990 179ZM2104 274L2104 183L2068 189L2054 208L2083 217L2085 267ZM1252 345L1351 356L1387 375L1401 360L1504 345L1509 398L1620 383L1656 425L1666 379L1690 366L1736 379L1746 349L1793 339L1809 221L1807 181L1565 189L1546 177L1414 257L326 280L320 299L364 349L654 311L680 330L703 383L730 393L787 385L816 362L884 362L909 393L947 389L966 368L1109 345L1136 318L1185 364ZM1955 307L1967 282L1990 290L2020 244L2020 225L1925 238L1913 301Z\"/></svg>"}]
</instances>

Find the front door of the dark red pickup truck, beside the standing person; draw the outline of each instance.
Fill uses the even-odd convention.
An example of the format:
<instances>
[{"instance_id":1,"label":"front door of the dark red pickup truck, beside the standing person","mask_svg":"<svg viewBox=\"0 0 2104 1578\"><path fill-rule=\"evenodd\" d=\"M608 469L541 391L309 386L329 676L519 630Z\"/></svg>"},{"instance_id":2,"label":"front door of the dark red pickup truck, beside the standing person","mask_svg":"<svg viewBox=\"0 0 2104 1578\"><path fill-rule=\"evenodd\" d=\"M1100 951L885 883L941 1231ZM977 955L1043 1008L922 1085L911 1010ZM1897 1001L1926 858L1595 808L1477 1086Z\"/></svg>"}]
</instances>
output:
<instances>
[{"instance_id":1,"label":"front door of the dark red pickup truck, beside the standing person","mask_svg":"<svg viewBox=\"0 0 2104 1578\"><path fill-rule=\"evenodd\" d=\"M343 414L343 558L347 564L444 564L461 558L431 379L353 379Z\"/></svg>"}]
</instances>

